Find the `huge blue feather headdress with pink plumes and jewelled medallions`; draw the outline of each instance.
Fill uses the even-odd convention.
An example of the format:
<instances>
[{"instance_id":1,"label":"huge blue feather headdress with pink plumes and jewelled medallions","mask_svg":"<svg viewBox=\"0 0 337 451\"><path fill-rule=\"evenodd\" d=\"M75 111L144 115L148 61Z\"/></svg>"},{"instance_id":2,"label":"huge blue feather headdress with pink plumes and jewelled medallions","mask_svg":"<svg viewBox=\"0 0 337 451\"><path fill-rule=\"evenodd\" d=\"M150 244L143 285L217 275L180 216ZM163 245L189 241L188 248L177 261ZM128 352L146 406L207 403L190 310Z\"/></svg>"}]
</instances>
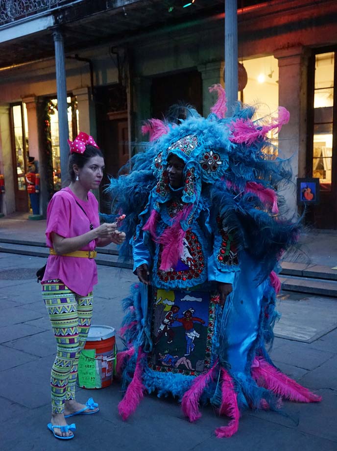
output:
<instances>
[{"instance_id":1,"label":"huge blue feather headdress with pink plumes and jewelled medallions","mask_svg":"<svg viewBox=\"0 0 337 451\"><path fill-rule=\"evenodd\" d=\"M253 121L255 108L238 103L233 116L225 118L223 88L211 89L217 90L218 101L207 118L190 106L178 105L171 109L169 120L149 120L143 126L150 136L145 151L136 154L123 168L127 173L111 179L106 188L113 199L111 217L126 215L121 230L127 239L120 257L130 258L129 240L149 196L158 212L172 196L167 162L174 154L185 163L181 198L187 213L179 218L179 227L188 229L200 202L207 198L214 227L219 216L237 247L264 264L264 279L297 241L300 228L298 222L281 217L278 189L291 180L291 169L289 160L278 157L267 138L269 131L278 132L288 122L289 113L280 107L276 117Z\"/></svg>"}]
</instances>

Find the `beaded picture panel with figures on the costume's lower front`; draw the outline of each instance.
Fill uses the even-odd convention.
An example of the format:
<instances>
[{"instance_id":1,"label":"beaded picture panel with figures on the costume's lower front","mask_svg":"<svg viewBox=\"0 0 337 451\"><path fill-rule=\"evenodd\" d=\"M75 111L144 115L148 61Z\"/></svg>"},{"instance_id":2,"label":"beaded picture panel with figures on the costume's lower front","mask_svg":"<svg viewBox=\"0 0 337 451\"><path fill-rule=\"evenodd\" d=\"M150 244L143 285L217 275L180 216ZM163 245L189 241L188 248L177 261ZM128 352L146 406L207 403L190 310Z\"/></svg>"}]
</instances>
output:
<instances>
[{"instance_id":1,"label":"beaded picture panel with figures on the costume's lower front","mask_svg":"<svg viewBox=\"0 0 337 451\"><path fill-rule=\"evenodd\" d=\"M209 368L215 304L209 292L155 290L152 304L152 353L156 371L199 374Z\"/></svg>"}]
</instances>

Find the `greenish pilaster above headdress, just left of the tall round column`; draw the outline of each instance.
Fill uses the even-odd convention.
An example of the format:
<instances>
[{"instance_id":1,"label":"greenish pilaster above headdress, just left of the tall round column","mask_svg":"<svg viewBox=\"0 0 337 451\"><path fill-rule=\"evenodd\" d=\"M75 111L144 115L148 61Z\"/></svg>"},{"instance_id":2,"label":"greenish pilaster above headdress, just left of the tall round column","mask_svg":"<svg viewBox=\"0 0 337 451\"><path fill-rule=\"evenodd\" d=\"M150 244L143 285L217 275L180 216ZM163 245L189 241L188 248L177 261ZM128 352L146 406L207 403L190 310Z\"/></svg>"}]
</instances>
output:
<instances>
[{"instance_id":1,"label":"greenish pilaster above headdress, just left of the tall round column","mask_svg":"<svg viewBox=\"0 0 337 451\"><path fill-rule=\"evenodd\" d=\"M202 77L202 111L200 114L208 116L211 107L217 101L217 93L209 92L209 87L213 84L221 83L223 85L223 62L213 61L198 65L198 71Z\"/></svg>"}]
</instances>

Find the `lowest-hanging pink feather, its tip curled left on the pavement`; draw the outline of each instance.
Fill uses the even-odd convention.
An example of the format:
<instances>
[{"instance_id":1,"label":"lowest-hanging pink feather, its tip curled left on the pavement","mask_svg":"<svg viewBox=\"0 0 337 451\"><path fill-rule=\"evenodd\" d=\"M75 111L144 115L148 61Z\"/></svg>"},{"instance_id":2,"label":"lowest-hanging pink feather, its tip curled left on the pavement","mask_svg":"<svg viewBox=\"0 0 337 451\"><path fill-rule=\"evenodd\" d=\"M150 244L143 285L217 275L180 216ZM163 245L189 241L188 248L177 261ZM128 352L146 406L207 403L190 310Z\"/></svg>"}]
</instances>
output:
<instances>
[{"instance_id":1,"label":"lowest-hanging pink feather, its tip curled left on the pavement","mask_svg":"<svg viewBox=\"0 0 337 451\"><path fill-rule=\"evenodd\" d=\"M227 426L221 426L216 429L217 438L232 437L239 429L240 411L238 407L238 398L234 388L233 380L228 372L221 368L222 373L222 399L219 409L220 415L231 417L232 420Z\"/></svg>"}]
</instances>

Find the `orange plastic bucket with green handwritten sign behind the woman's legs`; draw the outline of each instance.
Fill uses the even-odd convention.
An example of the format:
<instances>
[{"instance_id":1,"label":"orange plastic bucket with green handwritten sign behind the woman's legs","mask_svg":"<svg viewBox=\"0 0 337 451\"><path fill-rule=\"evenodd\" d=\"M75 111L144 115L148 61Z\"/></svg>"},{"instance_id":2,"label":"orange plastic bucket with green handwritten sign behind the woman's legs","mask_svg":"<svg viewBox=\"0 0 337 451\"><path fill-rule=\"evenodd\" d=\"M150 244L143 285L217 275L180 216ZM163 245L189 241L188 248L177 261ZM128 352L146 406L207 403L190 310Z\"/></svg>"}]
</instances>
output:
<instances>
[{"instance_id":1,"label":"orange plastic bucket with green handwritten sign behind the woman's legs","mask_svg":"<svg viewBox=\"0 0 337 451\"><path fill-rule=\"evenodd\" d=\"M116 360L115 329L92 325L78 362L78 386L104 388L112 383Z\"/></svg>"}]
</instances>

